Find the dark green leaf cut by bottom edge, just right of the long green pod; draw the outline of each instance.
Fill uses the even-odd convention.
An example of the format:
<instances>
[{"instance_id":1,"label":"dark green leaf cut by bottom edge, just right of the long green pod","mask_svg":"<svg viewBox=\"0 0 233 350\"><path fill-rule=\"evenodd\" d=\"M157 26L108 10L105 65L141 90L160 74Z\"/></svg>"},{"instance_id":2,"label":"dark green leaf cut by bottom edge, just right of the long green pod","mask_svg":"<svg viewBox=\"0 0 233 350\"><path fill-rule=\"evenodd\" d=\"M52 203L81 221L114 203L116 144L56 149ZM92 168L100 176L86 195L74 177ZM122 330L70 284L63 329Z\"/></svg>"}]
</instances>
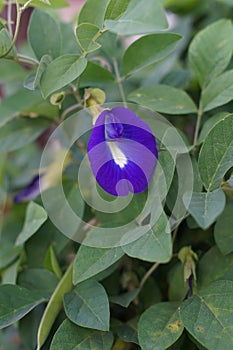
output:
<instances>
[{"instance_id":1,"label":"dark green leaf cut by bottom edge, just right of the long green pod","mask_svg":"<svg viewBox=\"0 0 233 350\"><path fill-rule=\"evenodd\" d=\"M65 320L52 340L51 350L111 350L111 332L100 332L76 326Z\"/></svg>"}]
</instances>

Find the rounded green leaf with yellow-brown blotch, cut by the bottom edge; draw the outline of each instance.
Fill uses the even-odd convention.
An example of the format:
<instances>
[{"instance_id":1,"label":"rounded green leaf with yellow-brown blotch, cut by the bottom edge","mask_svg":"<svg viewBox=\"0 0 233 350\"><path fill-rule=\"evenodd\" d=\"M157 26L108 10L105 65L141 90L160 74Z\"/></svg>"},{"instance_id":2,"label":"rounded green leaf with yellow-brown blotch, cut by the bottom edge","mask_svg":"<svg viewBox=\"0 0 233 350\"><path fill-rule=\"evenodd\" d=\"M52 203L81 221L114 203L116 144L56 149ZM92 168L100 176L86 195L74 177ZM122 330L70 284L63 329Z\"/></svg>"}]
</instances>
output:
<instances>
[{"instance_id":1,"label":"rounded green leaf with yellow-brown blotch, cut by the bottom edge","mask_svg":"<svg viewBox=\"0 0 233 350\"><path fill-rule=\"evenodd\" d=\"M139 344L142 350L167 349L181 336L183 329L177 305L158 303L140 317Z\"/></svg>"}]
</instances>

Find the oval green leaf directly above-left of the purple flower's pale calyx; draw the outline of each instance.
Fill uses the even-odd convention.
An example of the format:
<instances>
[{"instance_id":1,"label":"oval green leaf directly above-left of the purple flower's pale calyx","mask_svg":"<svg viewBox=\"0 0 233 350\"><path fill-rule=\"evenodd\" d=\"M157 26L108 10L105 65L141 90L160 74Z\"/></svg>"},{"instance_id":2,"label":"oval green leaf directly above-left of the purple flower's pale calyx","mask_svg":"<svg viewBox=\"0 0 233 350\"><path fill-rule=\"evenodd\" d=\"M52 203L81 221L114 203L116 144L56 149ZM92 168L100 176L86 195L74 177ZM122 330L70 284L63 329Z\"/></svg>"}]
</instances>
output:
<instances>
[{"instance_id":1,"label":"oval green leaf directly above-left of the purple flower's pale calyx","mask_svg":"<svg viewBox=\"0 0 233 350\"><path fill-rule=\"evenodd\" d=\"M86 65L86 58L78 55L64 55L52 61L41 79L41 92L44 98L80 76Z\"/></svg>"}]
</instances>

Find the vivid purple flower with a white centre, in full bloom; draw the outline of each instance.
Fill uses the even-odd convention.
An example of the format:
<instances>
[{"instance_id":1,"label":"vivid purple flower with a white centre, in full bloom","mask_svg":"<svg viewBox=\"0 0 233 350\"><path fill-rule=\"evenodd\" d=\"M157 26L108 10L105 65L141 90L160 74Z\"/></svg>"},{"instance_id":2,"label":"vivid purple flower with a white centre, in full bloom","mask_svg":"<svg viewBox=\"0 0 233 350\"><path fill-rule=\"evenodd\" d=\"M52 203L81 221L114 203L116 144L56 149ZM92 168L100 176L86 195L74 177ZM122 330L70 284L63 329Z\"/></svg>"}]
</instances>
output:
<instances>
[{"instance_id":1,"label":"vivid purple flower with a white centre, in full bloom","mask_svg":"<svg viewBox=\"0 0 233 350\"><path fill-rule=\"evenodd\" d=\"M96 181L114 196L145 191L158 159L151 129L124 107L99 115L87 150Z\"/></svg>"}]
</instances>

